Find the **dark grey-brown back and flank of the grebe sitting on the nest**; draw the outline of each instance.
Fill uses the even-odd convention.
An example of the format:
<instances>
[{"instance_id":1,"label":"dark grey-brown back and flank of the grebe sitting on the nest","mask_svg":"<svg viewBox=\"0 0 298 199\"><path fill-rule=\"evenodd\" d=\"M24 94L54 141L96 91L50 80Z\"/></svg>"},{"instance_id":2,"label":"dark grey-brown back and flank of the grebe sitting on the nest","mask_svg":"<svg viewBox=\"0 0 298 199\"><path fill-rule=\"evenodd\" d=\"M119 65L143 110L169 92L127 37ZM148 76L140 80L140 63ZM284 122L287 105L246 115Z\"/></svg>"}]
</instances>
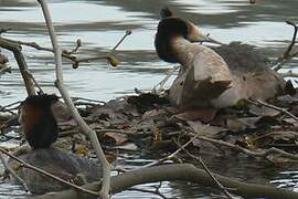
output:
<instances>
[{"instance_id":1,"label":"dark grey-brown back and flank of the grebe sitting on the nest","mask_svg":"<svg viewBox=\"0 0 298 199\"><path fill-rule=\"evenodd\" d=\"M236 84L242 92L254 100L267 100L278 94L285 80L269 67L268 59L255 46L232 42L213 48L227 63Z\"/></svg>"}]
</instances>

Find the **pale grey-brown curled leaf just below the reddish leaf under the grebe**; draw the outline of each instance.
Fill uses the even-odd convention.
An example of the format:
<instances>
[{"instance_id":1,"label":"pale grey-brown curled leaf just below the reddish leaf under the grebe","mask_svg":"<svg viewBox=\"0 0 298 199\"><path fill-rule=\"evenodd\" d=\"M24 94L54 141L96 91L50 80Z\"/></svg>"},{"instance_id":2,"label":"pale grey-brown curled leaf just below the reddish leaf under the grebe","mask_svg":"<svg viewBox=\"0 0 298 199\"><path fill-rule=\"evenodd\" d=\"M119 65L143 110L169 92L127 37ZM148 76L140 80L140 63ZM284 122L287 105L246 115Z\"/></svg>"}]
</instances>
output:
<instances>
[{"instance_id":1,"label":"pale grey-brown curled leaf just below the reddish leaf under the grebe","mask_svg":"<svg viewBox=\"0 0 298 199\"><path fill-rule=\"evenodd\" d=\"M198 133L202 136L210 137L210 138L216 138L216 137L219 137L220 133L227 130L224 127L205 125L205 124L201 123L200 121L195 121L195 122L188 121L187 123L190 125L190 127L195 133Z\"/></svg>"}]
</instances>

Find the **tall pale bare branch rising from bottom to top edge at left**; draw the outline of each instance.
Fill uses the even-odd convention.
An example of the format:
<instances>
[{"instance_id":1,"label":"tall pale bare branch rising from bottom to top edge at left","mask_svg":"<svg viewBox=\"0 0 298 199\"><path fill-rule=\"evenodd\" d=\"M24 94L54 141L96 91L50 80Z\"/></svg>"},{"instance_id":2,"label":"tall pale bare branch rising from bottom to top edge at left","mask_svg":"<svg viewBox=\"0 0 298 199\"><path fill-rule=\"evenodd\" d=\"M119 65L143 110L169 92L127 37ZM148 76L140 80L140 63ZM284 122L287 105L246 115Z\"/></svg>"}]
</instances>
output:
<instances>
[{"instance_id":1,"label":"tall pale bare branch rising from bottom to top edge at left","mask_svg":"<svg viewBox=\"0 0 298 199\"><path fill-rule=\"evenodd\" d=\"M61 48L57 42L57 38L55 34L55 30L53 27L53 22L51 19L51 14L47 8L47 4L44 0L38 0L41 4L43 15L45 19L45 23L47 27L47 31L50 33L50 38L52 41L53 50L54 50L54 56L55 56L55 71L56 71L56 86L66 103L67 107L70 108L70 112L72 113L73 118L77 122L77 125L81 127L82 132L84 132L86 135L88 135L92 146L95 150L95 154L102 164L103 167L103 186L102 190L99 191L99 196L104 199L108 198L109 189L110 189L110 165L107 161L105 154L103 151L103 148L99 144L99 140L97 138L96 133L89 128L89 126L84 122L84 119L81 117L79 113L77 112L74 103L71 100L71 96L63 83L63 71L62 71L62 56L61 56Z\"/></svg>"}]
</instances>

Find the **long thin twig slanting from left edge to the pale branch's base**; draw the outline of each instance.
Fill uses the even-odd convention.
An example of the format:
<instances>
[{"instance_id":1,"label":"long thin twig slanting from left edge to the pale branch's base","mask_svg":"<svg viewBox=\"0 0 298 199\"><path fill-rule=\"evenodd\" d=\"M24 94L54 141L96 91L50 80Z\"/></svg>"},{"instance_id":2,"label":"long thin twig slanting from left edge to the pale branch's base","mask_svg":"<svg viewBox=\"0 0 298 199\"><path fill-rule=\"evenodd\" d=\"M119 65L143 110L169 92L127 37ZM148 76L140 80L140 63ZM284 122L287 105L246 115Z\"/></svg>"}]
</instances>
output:
<instances>
[{"instance_id":1,"label":"long thin twig slanting from left edge to the pale branch's base","mask_svg":"<svg viewBox=\"0 0 298 199\"><path fill-rule=\"evenodd\" d=\"M14 159L15 161L19 161L19 163L22 164L22 166L25 167L25 168L32 169L32 170L34 170L34 171L36 171L36 172L39 172L39 174L42 174L42 175L44 175L44 176L46 176L46 177L52 178L52 179L54 179L54 180L56 180L56 181L58 181L58 182L62 182L62 184L64 184L64 185L67 185L67 186L72 187L72 188L74 188L74 189L76 189L76 190L78 190L78 191L81 191L81 192L86 192L86 193L89 193L89 195L98 196L98 193L95 192L95 191L87 190L87 189L85 189L85 188L83 188L83 187L79 187L79 186L74 185L74 184L71 184L70 181L66 181L66 180L64 180L64 179L62 179L62 178L60 178L60 177L56 177L56 176L54 176L54 175L52 175L52 174L50 174L50 172L47 172L47 171L45 171L45 170L43 170L43 169L40 169L40 168L38 168L38 167L34 167L34 166L32 166L32 165L25 163L24 160L22 160L22 159L15 157L14 155L8 153L7 150L4 150L4 149L2 149L2 148L0 148L0 151L3 153L3 154L6 154L7 156L11 157L11 158Z\"/></svg>"}]
</instances>

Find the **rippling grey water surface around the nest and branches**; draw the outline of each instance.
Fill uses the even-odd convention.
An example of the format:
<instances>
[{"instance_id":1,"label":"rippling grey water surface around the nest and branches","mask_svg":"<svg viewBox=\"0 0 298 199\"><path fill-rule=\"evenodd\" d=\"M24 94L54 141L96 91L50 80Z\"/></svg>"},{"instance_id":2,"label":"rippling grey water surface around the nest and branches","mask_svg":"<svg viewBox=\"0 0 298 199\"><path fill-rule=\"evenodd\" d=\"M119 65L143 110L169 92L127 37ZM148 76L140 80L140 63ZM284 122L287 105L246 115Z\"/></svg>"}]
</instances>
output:
<instances>
[{"instance_id":1,"label":"rippling grey water surface around the nest and branches","mask_svg":"<svg viewBox=\"0 0 298 199\"><path fill-rule=\"evenodd\" d=\"M169 6L182 18L200 25L204 33L224 43L243 41L257 45L270 59L280 55L291 39L292 28L284 21L297 17L297 0L259 0L256 6L248 0L49 0L58 41L64 49L72 50L76 39L83 41L79 57L106 54L131 30L119 46L117 67L106 61L93 61L73 70L64 61L64 77L73 96L110 100L124 94L151 90L171 64L160 61L153 49L159 10ZM0 28L11 28L3 36L51 46L39 4L33 0L0 0ZM9 56L11 74L0 77L0 104L23 100L26 95L13 55ZM56 93L53 86L53 54L23 48L30 71L47 93ZM295 59L286 67L298 65ZM207 158L211 170L252 182L274 184L298 190L298 171L292 166L267 167L253 159ZM137 167L148 161L141 157L119 159L124 165ZM1 167L1 166L0 166ZM148 188L148 185L146 185ZM162 192L169 198L204 198L210 190L194 185L164 182ZM0 182L0 198L20 198L21 188ZM157 198L149 193L126 191L114 198Z\"/></svg>"}]
</instances>

